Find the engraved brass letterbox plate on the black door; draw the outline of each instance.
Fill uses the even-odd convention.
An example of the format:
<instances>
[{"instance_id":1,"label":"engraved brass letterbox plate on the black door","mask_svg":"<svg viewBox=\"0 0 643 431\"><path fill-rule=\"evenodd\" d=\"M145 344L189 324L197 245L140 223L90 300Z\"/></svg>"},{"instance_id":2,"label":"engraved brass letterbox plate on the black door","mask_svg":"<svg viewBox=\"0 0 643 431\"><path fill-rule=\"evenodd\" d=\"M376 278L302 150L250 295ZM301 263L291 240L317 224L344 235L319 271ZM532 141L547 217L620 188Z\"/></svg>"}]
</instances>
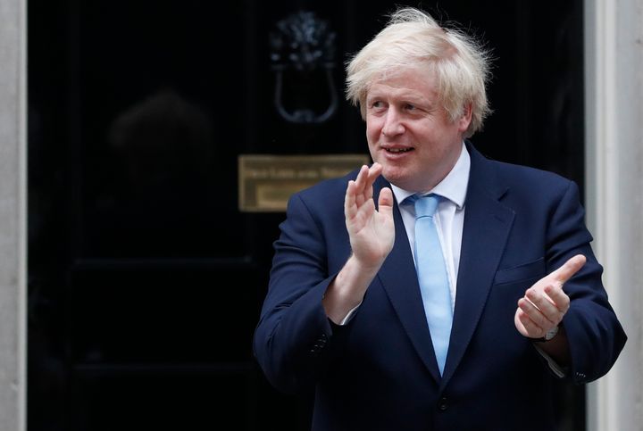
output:
<instances>
[{"instance_id":1,"label":"engraved brass letterbox plate on the black door","mask_svg":"<svg viewBox=\"0 0 643 431\"><path fill-rule=\"evenodd\" d=\"M239 155L239 210L286 211L290 195L322 179L346 175L370 162L371 158L365 154Z\"/></svg>"}]
</instances>

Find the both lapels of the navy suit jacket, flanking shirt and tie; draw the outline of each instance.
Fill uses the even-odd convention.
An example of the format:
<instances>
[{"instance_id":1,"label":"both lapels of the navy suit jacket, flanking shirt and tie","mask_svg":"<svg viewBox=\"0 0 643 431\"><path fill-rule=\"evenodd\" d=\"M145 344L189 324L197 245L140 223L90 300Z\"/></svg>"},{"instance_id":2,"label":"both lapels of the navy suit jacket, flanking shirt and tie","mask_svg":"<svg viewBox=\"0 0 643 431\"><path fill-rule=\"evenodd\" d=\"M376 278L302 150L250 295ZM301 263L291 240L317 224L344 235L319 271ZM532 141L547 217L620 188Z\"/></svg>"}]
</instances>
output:
<instances>
[{"instance_id":1,"label":"both lapels of the navy suit jacket, flanking shirt and tie","mask_svg":"<svg viewBox=\"0 0 643 431\"><path fill-rule=\"evenodd\" d=\"M496 178L495 170L472 145L467 145L472 157L467 198L465 201L463 243L460 253L454 321L444 376L440 377L422 306L422 296L413 264L402 216L397 204L393 209L396 239L393 250L384 261L378 279L388 294L411 342L431 376L444 388L462 361L475 328L484 310L498 264L505 251L509 232L514 224L514 211L500 203L507 188ZM382 186L379 178L374 196ZM377 202L377 197L375 197Z\"/></svg>"}]
</instances>

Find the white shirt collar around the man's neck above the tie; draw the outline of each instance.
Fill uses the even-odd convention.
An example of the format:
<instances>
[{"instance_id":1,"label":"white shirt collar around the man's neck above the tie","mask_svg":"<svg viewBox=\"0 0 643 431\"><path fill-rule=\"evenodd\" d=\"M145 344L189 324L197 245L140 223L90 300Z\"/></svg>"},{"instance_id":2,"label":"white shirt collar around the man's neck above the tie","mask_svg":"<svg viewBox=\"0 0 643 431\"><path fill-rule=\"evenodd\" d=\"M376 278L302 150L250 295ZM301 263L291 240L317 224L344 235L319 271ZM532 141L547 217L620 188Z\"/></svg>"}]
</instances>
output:
<instances>
[{"instance_id":1,"label":"white shirt collar around the man's neck above the tie","mask_svg":"<svg viewBox=\"0 0 643 431\"><path fill-rule=\"evenodd\" d=\"M464 199L466 198L470 170L471 156L463 143L460 157L458 157L457 162L455 162L453 169L447 174L447 177L440 181L438 185L433 187L428 193L444 196L449 201L455 203L458 210L462 210ZM391 188L398 203L404 202L408 196L413 195L413 192L409 192L393 184L391 184Z\"/></svg>"}]
</instances>

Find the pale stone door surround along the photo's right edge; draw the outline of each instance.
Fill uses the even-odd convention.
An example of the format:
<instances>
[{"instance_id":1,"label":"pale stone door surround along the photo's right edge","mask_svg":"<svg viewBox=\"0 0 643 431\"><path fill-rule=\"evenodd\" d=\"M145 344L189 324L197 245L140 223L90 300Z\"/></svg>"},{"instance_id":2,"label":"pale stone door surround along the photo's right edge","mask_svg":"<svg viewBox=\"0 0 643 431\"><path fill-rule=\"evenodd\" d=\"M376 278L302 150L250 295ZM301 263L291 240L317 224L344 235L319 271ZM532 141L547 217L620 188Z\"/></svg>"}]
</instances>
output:
<instances>
[{"instance_id":1,"label":"pale stone door surround along the photo's right edge","mask_svg":"<svg viewBox=\"0 0 643 431\"><path fill-rule=\"evenodd\" d=\"M629 339L588 389L588 429L643 429L643 0L587 0L586 203Z\"/></svg>"}]
</instances>

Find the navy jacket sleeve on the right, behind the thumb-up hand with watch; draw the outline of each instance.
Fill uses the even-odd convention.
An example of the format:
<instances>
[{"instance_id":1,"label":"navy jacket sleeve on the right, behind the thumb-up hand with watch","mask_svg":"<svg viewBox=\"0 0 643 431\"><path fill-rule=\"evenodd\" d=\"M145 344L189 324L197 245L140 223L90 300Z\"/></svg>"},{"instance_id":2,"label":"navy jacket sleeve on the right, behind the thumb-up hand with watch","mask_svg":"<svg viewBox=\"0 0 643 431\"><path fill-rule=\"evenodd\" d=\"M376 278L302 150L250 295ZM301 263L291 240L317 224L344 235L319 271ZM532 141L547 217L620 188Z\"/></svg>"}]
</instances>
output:
<instances>
[{"instance_id":1,"label":"navy jacket sleeve on the right, behind the thumb-up hand with watch","mask_svg":"<svg viewBox=\"0 0 643 431\"><path fill-rule=\"evenodd\" d=\"M584 217L578 187L570 182L549 223L547 261L553 270L575 254L582 253L587 258L585 266L564 285L571 300L563 319L572 357L568 377L575 383L604 376L627 339L608 302L601 281L603 268L592 252L593 238Z\"/></svg>"}]
</instances>

